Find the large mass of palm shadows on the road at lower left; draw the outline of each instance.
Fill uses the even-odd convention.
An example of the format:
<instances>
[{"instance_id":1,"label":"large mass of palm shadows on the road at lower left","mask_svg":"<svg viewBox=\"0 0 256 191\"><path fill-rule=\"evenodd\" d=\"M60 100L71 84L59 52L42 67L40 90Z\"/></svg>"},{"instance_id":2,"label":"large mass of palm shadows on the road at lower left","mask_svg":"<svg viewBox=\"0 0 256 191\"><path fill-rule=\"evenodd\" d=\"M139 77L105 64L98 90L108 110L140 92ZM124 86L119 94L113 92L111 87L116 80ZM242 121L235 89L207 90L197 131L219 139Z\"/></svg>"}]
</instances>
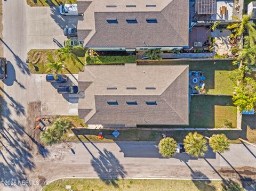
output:
<instances>
[{"instance_id":1,"label":"large mass of palm shadows on the road at lower left","mask_svg":"<svg viewBox=\"0 0 256 191\"><path fill-rule=\"evenodd\" d=\"M0 87L1 88L1 87ZM0 90L3 91L1 88ZM27 173L34 169L33 161L33 144L36 144L38 153L43 156L47 155L47 151L36 142L33 136L29 135L25 127L18 122L18 119L11 117L10 106L15 105L21 107L17 114L25 115L23 106L16 103L12 97L6 92L4 94L12 101L8 104L3 97L0 96L0 103L3 106L3 114L0 115L0 180L27 180ZM15 110L14 110L15 111ZM3 118L6 119L5 124ZM35 151L35 150L34 150ZM13 185L6 185L12 187Z\"/></svg>"}]
</instances>

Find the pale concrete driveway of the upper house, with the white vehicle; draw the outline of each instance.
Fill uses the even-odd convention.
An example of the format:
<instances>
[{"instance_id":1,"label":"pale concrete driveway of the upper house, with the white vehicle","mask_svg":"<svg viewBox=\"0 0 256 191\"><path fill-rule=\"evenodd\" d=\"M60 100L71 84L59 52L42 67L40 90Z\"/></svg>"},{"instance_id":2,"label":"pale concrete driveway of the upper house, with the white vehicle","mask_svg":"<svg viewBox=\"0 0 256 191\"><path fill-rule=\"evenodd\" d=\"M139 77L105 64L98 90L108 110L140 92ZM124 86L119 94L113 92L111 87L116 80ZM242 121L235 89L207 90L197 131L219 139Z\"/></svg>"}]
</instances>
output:
<instances>
[{"instance_id":1,"label":"pale concrete driveway of the upper house, with the white vehicle","mask_svg":"<svg viewBox=\"0 0 256 191\"><path fill-rule=\"evenodd\" d=\"M30 49L58 48L53 38L63 45L64 40L68 39L63 35L63 29L77 27L78 19L82 17L61 15L59 7L27 7L27 52Z\"/></svg>"}]
</instances>

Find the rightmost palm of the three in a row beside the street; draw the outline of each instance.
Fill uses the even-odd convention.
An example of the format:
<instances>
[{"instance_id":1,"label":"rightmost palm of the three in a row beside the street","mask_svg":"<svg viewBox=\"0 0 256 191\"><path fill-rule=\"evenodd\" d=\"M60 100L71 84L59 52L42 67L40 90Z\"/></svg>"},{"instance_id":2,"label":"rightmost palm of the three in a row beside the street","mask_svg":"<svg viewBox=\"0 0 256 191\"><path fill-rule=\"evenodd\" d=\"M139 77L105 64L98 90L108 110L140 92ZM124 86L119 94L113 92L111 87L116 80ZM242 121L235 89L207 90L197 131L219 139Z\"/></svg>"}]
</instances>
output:
<instances>
[{"instance_id":1,"label":"rightmost palm of the three in a row beside the street","mask_svg":"<svg viewBox=\"0 0 256 191\"><path fill-rule=\"evenodd\" d=\"M230 140L224 134L212 135L209 139L210 147L212 147L214 153L223 153L229 150Z\"/></svg>"}]
</instances>

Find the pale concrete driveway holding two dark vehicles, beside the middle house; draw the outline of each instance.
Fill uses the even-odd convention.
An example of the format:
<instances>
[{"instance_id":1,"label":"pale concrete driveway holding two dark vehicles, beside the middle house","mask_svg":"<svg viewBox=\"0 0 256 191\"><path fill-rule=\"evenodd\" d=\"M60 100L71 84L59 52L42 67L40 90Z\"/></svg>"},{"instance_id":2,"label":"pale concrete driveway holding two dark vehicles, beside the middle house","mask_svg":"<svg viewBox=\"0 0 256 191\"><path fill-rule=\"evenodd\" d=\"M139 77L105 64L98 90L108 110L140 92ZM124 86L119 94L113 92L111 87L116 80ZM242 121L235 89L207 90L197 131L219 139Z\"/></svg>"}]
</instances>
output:
<instances>
[{"instance_id":1,"label":"pale concrete driveway holding two dark vehicles, beside the middle house","mask_svg":"<svg viewBox=\"0 0 256 191\"><path fill-rule=\"evenodd\" d=\"M32 74L31 85L28 86L29 100L31 102L41 102L42 115L78 115L79 94L59 94L58 86L77 85L78 74L66 74L66 83L50 83L45 80L46 74Z\"/></svg>"}]
</instances>

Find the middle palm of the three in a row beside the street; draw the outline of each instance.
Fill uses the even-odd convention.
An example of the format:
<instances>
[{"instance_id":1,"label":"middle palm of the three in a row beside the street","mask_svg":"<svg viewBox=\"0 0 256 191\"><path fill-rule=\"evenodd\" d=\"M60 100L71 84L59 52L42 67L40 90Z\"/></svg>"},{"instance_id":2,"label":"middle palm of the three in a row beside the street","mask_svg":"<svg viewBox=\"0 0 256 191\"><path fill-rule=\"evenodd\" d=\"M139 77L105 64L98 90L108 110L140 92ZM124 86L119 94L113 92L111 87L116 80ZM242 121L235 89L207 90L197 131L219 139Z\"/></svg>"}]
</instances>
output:
<instances>
[{"instance_id":1,"label":"middle palm of the three in a row beside the street","mask_svg":"<svg viewBox=\"0 0 256 191\"><path fill-rule=\"evenodd\" d=\"M183 142L186 152L197 158L199 156L204 156L204 152L208 150L206 145L207 140L203 135L200 135L197 132L194 132L194 134L189 132Z\"/></svg>"}]
</instances>

